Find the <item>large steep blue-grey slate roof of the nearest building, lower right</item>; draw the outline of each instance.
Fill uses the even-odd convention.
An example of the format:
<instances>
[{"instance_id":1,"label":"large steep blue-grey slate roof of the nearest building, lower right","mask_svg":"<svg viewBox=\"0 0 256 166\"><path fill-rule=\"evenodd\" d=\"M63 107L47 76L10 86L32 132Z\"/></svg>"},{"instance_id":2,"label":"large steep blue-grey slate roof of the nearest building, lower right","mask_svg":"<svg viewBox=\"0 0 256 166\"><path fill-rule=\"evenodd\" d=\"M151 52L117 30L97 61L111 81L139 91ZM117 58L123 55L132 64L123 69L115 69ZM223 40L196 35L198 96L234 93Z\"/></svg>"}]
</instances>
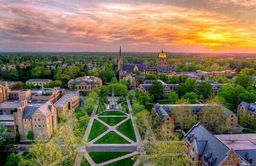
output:
<instances>
[{"instance_id":1,"label":"large steep blue-grey slate roof of the nearest building, lower right","mask_svg":"<svg viewBox=\"0 0 256 166\"><path fill-rule=\"evenodd\" d=\"M196 141L197 147L200 151L200 161L205 165L210 165L209 160L214 161L213 166L219 165L226 154L230 150L221 141L219 141L214 135L212 135L200 122L193 126L190 131L185 135L185 141L190 144L191 140ZM207 142L201 142L207 141ZM198 143L199 142L199 143ZM208 156L209 160L205 161L204 156Z\"/></svg>"}]
</instances>

